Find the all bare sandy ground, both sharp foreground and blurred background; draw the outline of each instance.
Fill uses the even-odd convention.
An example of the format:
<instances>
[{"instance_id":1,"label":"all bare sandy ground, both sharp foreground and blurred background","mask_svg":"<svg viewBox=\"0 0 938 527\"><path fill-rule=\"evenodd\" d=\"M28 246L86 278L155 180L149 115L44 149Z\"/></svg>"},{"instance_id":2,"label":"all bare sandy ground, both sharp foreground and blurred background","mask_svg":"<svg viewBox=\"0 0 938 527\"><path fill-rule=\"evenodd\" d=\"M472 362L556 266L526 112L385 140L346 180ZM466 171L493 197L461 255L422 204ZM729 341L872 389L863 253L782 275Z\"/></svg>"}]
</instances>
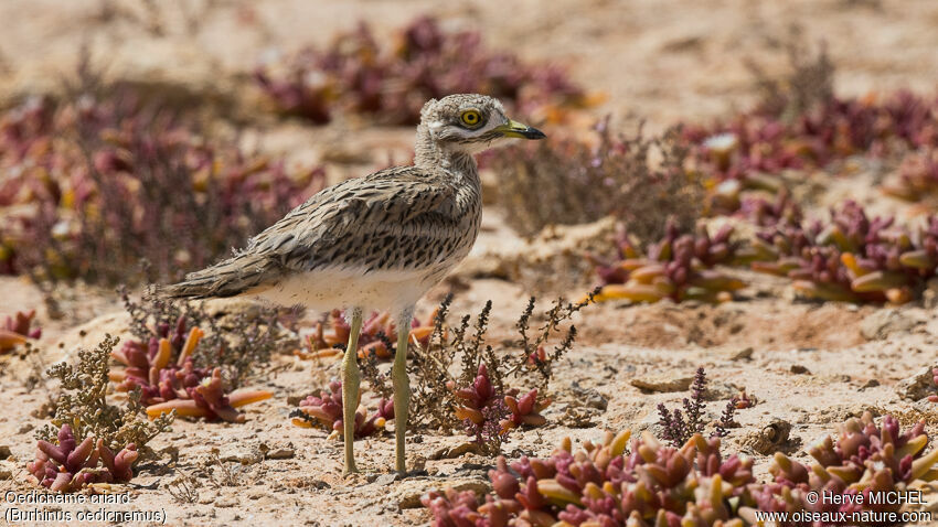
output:
<instances>
[{"instance_id":1,"label":"all bare sandy ground, both sharp foreground and blurred background","mask_svg":"<svg viewBox=\"0 0 938 527\"><path fill-rule=\"evenodd\" d=\"M251 98L242 97L253 89L245 74L266 54L326 42L335 30L352 28L360 19L386 35L424 12L438 14L447 26L479 29L492 46L566 64L574 78L606 94L606 101L593 110L597 117L612 112L618 118L646 118L657 127L745 107L754 96L745 61L757 58L770 71L784 68L782 42L791 24L801 25L809 41L828 43L838 66L840 93L898 87L928 92L938 78L938 32L934 31L938 3L929 0L519 0L512 2L509 15L503 3L483 1L171 1L161 6L157 20L162 29L157 34L138 20L146 12L138 2L0 2L4 21L0 106L31 90L53 89L57 76L71 71L81 43L90 42L95 56L108 63L114 76L167 83L203 96L220 94L242 101L238 111L251 116L249 106L244 106ZM251 126L264 148L301 162L328 158L339 148L351 152L349 158L358 161L330 165L337 178L360 175L371 165L384 164L386 155L406 159L413 133L360 130L349 141L348 130L360 125L340 121L312 129L257 117ZM860 192L839 185L841 196ZM497 217L489 216L487 222L497 223ZM504 240L497 226L484 232L475 252L477 261L510 251L505 245L511 244ZM802 459L802 448L832 431L833 423L866 409L894 412L904 422L926 418L929 431L936 431L934 407L903 399L898 389L903 379L936 361L938 324L931 308L793 302L784 284L747 278L754 284L738 301L716 306L604 304L586 310L577 320L580 340L552 384L556 402L545 412L548 424L515 433L505 452L545 455L564 435L579 440L601 437L604 430L640 431L657 420L659 402L676 404L685 391L644 392L632 381L686 378L697 366L705 366L712 380L715 400L708 411L714 418L738 390L756 396L754 408L738 412L742 427L732 431L727 447L754 455L757 465L765 466L767 455L754 445L763 444L764 428L777 420L791 426L790 440L777 448ZM435 290L422 308L431 309L449 283ZM476 313L491 299L495 305L491 337L512 337L527 291L516 283L466 276L459 283L454 312ZM767 291L780 292L780 298ZM582 291L554 293L579 295ZM105 331L126 330L120 305L109 291L67 289L56 297L65 318L51 320L32 286L0 278L0 315L39 309L45 333L40 342L44 364L74 356L77 346L94 345ZM84 336L82 330L87 332ZM31 363L0 357L4 396L0 448L10 447L12 453L0 460L0 493L36 488L24 464L32 459L33 433L43 421L30 412L46 400L47 391L43 385L26 388L24 379L31 370ZM177 461L140 466L132 485L126 486L129 504L86 508L161 510L168 525L419 525L429 520L418 508L424 492L484 485L492 460L471 453L433 459L465 441L433 433L413 435L408 442L408 463L423 466L423 472L395 480L393 440L383 434L356 443L363 474L343 478L341 443L327 441L324 432L292 427L287 418L289 397L309 394L337 372L337 364L316 366L278 356L271 370L253 383L273 390L275 397L248 407L247 423L180 420L172 433L153 444L179 449ZM575 395L575 383L595 390L607 401L606 409L585 407L583 396ZM563 419L568 409L586 412L590 424L571 427ZM206 471L201 466L212 458L212 449L230 461L209 463ZM258 454L264 450L283 450L289 458L264 459ZM192 474L196 475L192 503L169 494L171 481ZM0 510L7 507L0 502Z\"/></svg>"}]
</instances>

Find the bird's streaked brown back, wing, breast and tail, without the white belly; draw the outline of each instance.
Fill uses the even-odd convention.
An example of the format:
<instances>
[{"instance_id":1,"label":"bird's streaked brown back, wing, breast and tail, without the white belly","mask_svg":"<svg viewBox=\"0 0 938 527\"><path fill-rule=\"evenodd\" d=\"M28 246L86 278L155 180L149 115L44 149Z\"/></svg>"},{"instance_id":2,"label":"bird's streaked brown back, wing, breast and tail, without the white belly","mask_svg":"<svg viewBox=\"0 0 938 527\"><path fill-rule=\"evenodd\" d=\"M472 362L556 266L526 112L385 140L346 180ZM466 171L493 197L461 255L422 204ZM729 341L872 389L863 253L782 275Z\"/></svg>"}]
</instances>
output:
<instances>
[{"instance_id":1,"label":"bird's streaked brown back, wing, breast and tail, without the white belly","mask_svg":"<svg viewBox=\"0 0 938 527\"><path fill-rule=\"evenodd\" d=\"M471 170L462 172L462 181L445 172L398 166L331 186L253 238L232 258L190 273L163 292L195 298L264 297L264 291L291 275L308 273L316 280L317 275L344 270L371 280L381 275L379 271L425 269L435 275L431 271L438 268L448 270L448 265L468 252L481 218L475 162L465 169ZM294 300L291 304L326 310L348 306L353 299Z\"/></svg>"}]
</instances>

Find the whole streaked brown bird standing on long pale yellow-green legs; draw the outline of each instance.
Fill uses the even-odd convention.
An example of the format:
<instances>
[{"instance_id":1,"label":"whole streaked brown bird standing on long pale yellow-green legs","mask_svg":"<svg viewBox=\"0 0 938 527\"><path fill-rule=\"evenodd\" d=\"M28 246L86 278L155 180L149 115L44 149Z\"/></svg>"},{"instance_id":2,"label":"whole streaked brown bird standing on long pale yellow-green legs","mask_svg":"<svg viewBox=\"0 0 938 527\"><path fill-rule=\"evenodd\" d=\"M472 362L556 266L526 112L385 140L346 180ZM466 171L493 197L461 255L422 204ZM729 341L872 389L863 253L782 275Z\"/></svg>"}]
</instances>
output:
<instances>
[{"instance_id":1,"label":"whole streaked brown bird standing on long pale yellow-green legs","mask_svg":"<svg viewBox=\"0 0 938 527\"><path fill-rule=\"evenodd\" d=\"M409 383L405 370L414 305L476 241L482 213L473 154L503 138L542 139L483 95L431 99L420 111L413 166L396 166L326 189L252 238L232 258L159 288L175 298L259 297L317 311L344 308L351 335L342 361L345 473L356 472L354 415L362 313L397 321L392 367L396 469L405 472Z\"/></svg>"}]
</instances>

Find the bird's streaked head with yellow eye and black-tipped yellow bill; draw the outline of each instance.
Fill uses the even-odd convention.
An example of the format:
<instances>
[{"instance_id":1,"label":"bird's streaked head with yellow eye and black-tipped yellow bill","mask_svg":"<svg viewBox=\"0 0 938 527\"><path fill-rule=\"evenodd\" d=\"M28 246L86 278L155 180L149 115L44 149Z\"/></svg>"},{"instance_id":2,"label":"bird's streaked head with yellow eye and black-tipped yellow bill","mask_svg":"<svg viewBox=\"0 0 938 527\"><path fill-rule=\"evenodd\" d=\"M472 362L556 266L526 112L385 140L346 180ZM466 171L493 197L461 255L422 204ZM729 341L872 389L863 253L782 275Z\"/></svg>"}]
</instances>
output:
<instances>
[{"instance_id":1,"label":"bird's streaked head with yellow eye and black-tipped yellow bill","mask_svg":"<svg viewBox=\"0 0 938 527\"><path fill-rule=\"evenodd\" d=\"M440 148L477 153L505 138L544 139L544 132L505 117L504 107L487 95L457 94L430 99L420 126Z\"/></svg>"}]
</instances>

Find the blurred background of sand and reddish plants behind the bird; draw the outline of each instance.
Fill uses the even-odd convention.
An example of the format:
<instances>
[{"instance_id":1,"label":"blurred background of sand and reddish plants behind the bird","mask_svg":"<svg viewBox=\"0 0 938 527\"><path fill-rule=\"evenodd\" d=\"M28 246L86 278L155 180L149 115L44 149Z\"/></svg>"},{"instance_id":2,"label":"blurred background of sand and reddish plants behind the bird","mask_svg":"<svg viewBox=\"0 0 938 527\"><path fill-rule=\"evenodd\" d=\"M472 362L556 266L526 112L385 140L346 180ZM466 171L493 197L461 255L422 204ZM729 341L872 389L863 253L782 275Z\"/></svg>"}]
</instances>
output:
<instances>
[{"instance_id":1,"label":"blurred background of sand and reddish plants behind the bird","mask_svg":"<svg viewBox=\"0 0 938 527\"><path fill-rule=\"evenodd\" d=\"M934 11L4 2L19 23L0 37L0 272L179 278L323 185L406 163L426 99L479 92L551 136L480 160L490 224L516 244L617 225L565 287L726 299L738 281L700 271L743 266L813 298L907 301L938 265L938 233L905 226L927 224L938 185ZM854 201L839 225L809 224ZM881 213L899 221L871 230Z\"/></svg>"}]
</instances>

